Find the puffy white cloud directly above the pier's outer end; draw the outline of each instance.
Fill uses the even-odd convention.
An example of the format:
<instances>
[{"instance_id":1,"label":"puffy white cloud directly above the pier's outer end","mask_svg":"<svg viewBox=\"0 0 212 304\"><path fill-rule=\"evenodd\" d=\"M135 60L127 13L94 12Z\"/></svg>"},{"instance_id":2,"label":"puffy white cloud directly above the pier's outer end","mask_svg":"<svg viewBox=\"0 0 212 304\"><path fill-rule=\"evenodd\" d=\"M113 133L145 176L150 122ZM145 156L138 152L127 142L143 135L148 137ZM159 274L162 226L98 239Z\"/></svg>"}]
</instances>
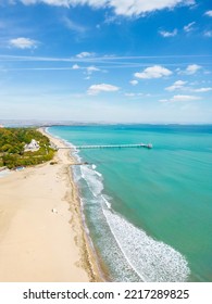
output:
<instances>
[{"instance_id":1,"label":"puffy white cloud directly above the pier's outer end","mask_svg":"<svg viewBox=\"0 0 212 304\"><path fill-rule=\"evenodd\" d=\"M140 79L161 78L172 75L172 71L161 66L154 65L145 68L141 73L135 73L134 76Z\"/></svg>"}]
</instances>

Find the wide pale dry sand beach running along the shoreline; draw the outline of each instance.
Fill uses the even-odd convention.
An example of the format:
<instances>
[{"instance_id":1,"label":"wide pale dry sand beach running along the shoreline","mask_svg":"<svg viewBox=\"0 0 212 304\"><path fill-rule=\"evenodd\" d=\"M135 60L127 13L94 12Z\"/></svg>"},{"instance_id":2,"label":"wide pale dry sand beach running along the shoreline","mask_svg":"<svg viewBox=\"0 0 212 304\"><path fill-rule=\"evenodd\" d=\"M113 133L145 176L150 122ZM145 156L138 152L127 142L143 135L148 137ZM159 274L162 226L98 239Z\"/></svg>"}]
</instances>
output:
<instances>
[{"instance_id":1,"label":"wide pale dry sand beach running along the shoreline","mask_svg":"<svg viewBox=\"0 0 212 304\"><path fill-rule=\"evenodd\" d=\"M59 150L55 161L0 178L0 281L100 280L68 169L74 160Z\"/></svg>"}]
</instances>

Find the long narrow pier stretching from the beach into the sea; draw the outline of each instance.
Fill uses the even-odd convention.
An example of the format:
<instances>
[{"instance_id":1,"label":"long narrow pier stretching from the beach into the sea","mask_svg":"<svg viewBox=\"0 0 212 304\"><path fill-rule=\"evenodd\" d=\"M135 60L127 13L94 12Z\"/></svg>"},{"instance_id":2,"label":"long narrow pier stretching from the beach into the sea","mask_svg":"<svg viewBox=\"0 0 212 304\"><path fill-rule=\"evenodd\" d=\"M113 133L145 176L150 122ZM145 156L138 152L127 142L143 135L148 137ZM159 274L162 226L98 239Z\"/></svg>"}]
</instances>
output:
<instances>
[{"instance_id":1,"label":"long narrow pier stretching from the beach into the sea","mask_svg":"<svg viewBox=\"0 0 212 304\"><path fill-rule=\"evenodd\" d=\"M123 149L123 148L147 148L151 149L151 143L133 143L133 144L83 144L74 147L57 147L57 149Z\"/></svg>"}]
</instances>

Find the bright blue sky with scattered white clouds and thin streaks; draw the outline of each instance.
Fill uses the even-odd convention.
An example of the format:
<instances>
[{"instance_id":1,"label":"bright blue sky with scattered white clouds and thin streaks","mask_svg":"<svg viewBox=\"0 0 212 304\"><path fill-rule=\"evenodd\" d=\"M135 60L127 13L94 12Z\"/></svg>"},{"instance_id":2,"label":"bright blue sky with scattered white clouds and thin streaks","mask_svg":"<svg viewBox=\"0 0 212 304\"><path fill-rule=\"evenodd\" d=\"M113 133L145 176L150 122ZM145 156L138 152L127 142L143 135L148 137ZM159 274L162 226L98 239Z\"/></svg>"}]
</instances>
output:
<instances>
[{"instance_id":1,"label":"bright blue sky with scattered white clouds and thin streaks","mask_svg":"<svg viewBox=\"0 0 212 304\"><path fill-rule=\"evenodd\" d=\"M211 0L0 0L0 119L211 124Z\"/></svg>"}]
</instances>

